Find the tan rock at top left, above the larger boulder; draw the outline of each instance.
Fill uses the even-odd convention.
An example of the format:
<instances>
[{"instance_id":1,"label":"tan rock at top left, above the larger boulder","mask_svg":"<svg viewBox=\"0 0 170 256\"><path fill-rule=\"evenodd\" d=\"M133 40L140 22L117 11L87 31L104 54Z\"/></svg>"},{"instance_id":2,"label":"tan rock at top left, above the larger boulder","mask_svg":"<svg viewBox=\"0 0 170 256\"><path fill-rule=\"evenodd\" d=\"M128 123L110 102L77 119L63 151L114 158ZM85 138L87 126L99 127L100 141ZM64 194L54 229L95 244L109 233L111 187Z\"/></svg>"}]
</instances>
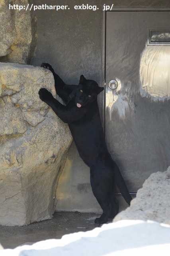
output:
<instances>
[{"instance_id":1,"label":"tan rock at top left, above the larger boulder","mask_svg":"<svg viewBox=\"0 0 170 256\"><path fill-rule=\"evenodd\" d=\"M9 10L9 3L26 8L29 1L0 1L0 61L26 64L35 47L35 22L29 11Z\"/></svg>"}]
</instances>

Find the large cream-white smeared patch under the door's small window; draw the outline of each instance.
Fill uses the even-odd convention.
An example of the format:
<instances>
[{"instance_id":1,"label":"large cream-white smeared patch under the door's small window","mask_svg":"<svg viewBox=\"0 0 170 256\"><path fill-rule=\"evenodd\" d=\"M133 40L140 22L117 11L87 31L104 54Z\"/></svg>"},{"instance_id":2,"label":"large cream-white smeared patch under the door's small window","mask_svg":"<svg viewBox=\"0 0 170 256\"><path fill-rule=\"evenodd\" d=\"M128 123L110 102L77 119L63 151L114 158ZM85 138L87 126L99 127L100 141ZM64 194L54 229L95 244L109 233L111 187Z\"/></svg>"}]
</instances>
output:
<instances>
[{"instance_id":1,"label":"large cream-white smeared patch under the door's small window","mask_svg":"<svg viewBox=\"0 0 170 256\"><path fill-rule=\"evenodd\" d=\"M170 46L146 46L140 63L141 96L170 97Z\"/></svg>"}]
</instances>

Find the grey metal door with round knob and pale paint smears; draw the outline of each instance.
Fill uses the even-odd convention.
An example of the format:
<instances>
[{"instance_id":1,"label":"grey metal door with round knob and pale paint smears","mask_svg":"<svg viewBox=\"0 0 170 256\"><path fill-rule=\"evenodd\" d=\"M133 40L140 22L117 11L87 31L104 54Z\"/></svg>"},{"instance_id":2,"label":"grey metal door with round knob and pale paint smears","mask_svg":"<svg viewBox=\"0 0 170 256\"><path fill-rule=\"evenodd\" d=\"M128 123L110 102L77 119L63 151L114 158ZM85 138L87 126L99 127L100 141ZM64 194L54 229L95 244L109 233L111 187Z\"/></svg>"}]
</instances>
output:
<instances>
[{"instance_id":1,"label":"grey metal door with round knob and pale paint smears","mask_svg":"<svg viewBox=\"0 0 170 256\"><path fill-rule=\"evenodd\" d=\"M170 165L170 12L106 12L105 61L106 142L137 192Z\"/></svg>"}]
</instances>

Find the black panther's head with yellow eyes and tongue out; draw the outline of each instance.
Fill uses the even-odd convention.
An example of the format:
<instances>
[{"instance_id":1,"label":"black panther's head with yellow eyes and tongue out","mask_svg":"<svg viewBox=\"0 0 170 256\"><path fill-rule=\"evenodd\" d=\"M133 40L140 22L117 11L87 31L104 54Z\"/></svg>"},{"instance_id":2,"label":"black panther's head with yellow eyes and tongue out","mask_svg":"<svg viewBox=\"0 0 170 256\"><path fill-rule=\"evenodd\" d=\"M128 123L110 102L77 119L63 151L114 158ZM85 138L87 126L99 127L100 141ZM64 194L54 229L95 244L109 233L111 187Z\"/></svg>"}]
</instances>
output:
<instances>
[{"instance_id":1,"label":"black panther's head with yellow eyes and tongue out","mask_svg":"<svg viewBox=\"0 0 170 256\"><path fill-rule=\"evenodd\" d=\"M88 80L83 75L76 88L75 103L78 108L96 100L98 94L104 90L94 80Z\"/></svg>"}]
</instances>

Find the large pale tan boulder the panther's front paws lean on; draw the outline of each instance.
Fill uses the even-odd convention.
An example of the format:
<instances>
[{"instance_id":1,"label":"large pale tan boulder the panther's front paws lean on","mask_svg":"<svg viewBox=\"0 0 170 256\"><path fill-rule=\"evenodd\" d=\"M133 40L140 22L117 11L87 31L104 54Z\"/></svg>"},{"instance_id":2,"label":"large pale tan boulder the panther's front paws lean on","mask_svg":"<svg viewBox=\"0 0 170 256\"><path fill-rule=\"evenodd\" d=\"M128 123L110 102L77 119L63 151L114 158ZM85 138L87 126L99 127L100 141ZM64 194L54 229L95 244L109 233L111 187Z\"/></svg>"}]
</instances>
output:
<instances>
[{"instance_id":1,"label":"large pale tan boulder the panther's front paws lean on","mask_svg":"<svg viewBox=\"0 0 170 256\"><path fill-rule=\"evenodd\" d=\"M49 70L0 63L0 224L51 218L55 191L72 140L68 126L39 99Z\"/></svg>"}]
</instances>

